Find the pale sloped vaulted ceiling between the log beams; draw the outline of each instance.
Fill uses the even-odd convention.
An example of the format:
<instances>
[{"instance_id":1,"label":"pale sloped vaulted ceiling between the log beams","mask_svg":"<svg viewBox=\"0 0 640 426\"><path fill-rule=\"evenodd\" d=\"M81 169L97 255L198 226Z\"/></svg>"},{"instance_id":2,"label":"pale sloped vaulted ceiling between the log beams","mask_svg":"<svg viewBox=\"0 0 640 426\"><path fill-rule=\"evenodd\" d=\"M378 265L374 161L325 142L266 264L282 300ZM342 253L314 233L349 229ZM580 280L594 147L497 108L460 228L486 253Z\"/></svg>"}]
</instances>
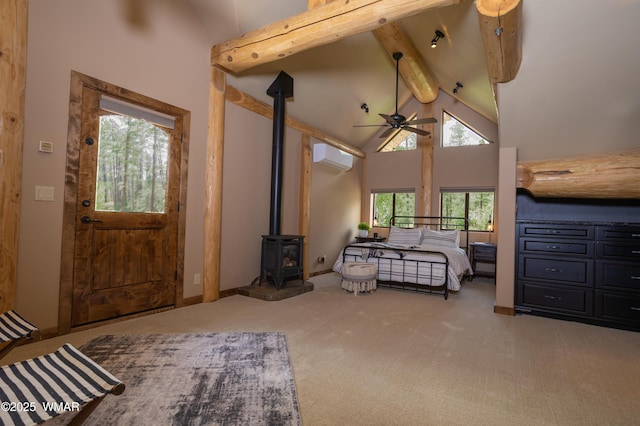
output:
<instances>
[{"instance_id":1,"label":"pale sloped vaulted ceiling between the log beams","mask_svg":"<svg viewBox=\"0 0 640 426\"><path fill-rule=\"evenodd\" d=\"M206 27L211 45L307 10L307 0L187 0ZM497 114L487 74L478 17L472 0L402 21L427 66L452 94L456 82L464 85L456 98L496 122ZM430 48L435 30L445 34ZM294 97L287 113L352 146L362 148L382 124L378 113L395 109L395 64L371 33L349 37L281 61L259 66L227 83L272 104L266 90L280 71L294 79ZM400 81L400 107L411 94ZM366 102L366 114L360 105Z\"/></svg>"}]
</instances>

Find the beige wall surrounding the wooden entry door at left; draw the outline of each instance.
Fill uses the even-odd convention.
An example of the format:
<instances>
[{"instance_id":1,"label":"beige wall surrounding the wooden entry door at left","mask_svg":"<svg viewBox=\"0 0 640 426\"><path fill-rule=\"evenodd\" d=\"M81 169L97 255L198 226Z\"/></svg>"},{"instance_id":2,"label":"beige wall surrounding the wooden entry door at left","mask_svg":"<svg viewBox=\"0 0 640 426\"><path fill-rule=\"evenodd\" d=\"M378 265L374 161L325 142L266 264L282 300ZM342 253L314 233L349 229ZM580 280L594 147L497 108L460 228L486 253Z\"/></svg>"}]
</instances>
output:
<instances>
[{"instance_id":1,"label":"beige wall surrounding the wooden entry door at left","mask_svg":"<svg viewBox=\"0 0 640 426\"><path fill-rule=\"evenodd\" d=\"M58 319L71 70L191 111L185 277L202 272L211 46L181 2L154 5L140 27L119 1L29 2L16 308L41 328ZM40 140L53 142L54 153L39 153ZM55 200L34 201L36 185L53 186ZM193 287L185 297L201 292Z\"/></svg>"}]
</instances>

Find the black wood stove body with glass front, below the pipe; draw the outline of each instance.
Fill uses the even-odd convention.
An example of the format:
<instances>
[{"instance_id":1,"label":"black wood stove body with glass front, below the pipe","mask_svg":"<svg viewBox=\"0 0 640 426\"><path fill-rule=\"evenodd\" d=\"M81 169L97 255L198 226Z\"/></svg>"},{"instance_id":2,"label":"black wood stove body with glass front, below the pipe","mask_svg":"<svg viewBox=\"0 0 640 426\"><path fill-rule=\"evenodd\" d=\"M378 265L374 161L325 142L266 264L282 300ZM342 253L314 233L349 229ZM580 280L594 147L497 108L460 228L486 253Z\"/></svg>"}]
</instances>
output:
<instances>
[{"instance_id":1,"label":"black wood stove body with glass front, below the pipe","mask_svg":"<svg viewBox=\"0 0 640 426\"><path fill-rule=\"evenodd\" d=\"M302 242L300 235L263 235L260 282L271 277L276 289L290 279L302 279Z\"/></svg>"}]
</instances>

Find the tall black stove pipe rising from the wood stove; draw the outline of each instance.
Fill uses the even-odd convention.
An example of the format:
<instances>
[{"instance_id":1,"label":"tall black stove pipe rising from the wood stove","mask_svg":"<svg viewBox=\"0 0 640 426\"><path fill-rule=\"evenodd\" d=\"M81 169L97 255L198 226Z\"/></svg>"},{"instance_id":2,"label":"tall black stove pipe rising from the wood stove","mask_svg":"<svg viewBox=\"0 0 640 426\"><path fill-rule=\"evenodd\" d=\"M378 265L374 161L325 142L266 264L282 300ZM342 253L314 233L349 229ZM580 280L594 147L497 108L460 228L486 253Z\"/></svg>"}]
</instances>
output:
<instances>
[{"instance_id":1,"label":"tall black stove pipe rising from the wood stove","mask_svg":"<svg viewBox=\"0 0 640 426\"><path fill-rule=\"evenodd\" d=\"M273 97L273 147L271 153L269 235L280 235L282 223L285 100L293 96L293 79L287 73L281 71L267 89L267 94Z\"/></svg>"}]
</instances>

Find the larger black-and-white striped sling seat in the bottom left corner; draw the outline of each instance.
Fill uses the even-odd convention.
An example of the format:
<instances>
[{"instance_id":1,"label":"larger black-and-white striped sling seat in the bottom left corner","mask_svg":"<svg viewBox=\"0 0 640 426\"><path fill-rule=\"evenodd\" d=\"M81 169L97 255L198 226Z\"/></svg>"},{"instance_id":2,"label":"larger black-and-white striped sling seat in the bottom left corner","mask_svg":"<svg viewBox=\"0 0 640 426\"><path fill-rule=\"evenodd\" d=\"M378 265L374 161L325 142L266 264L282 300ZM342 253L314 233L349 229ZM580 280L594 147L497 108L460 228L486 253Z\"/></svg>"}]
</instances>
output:
<instances>
[{"instance_id":1,"label":"larger black-and-white striped sling seat in the bottom left corner","mask_svg":"<svg viewBox=\"0 0 640 426\"><path fill-rule=\"evenodd\" d=\"M124 384L70 344L38 358L0 368L0 424L33 425L68 412L82 424Z\"/></svg>"}]
</instances>

